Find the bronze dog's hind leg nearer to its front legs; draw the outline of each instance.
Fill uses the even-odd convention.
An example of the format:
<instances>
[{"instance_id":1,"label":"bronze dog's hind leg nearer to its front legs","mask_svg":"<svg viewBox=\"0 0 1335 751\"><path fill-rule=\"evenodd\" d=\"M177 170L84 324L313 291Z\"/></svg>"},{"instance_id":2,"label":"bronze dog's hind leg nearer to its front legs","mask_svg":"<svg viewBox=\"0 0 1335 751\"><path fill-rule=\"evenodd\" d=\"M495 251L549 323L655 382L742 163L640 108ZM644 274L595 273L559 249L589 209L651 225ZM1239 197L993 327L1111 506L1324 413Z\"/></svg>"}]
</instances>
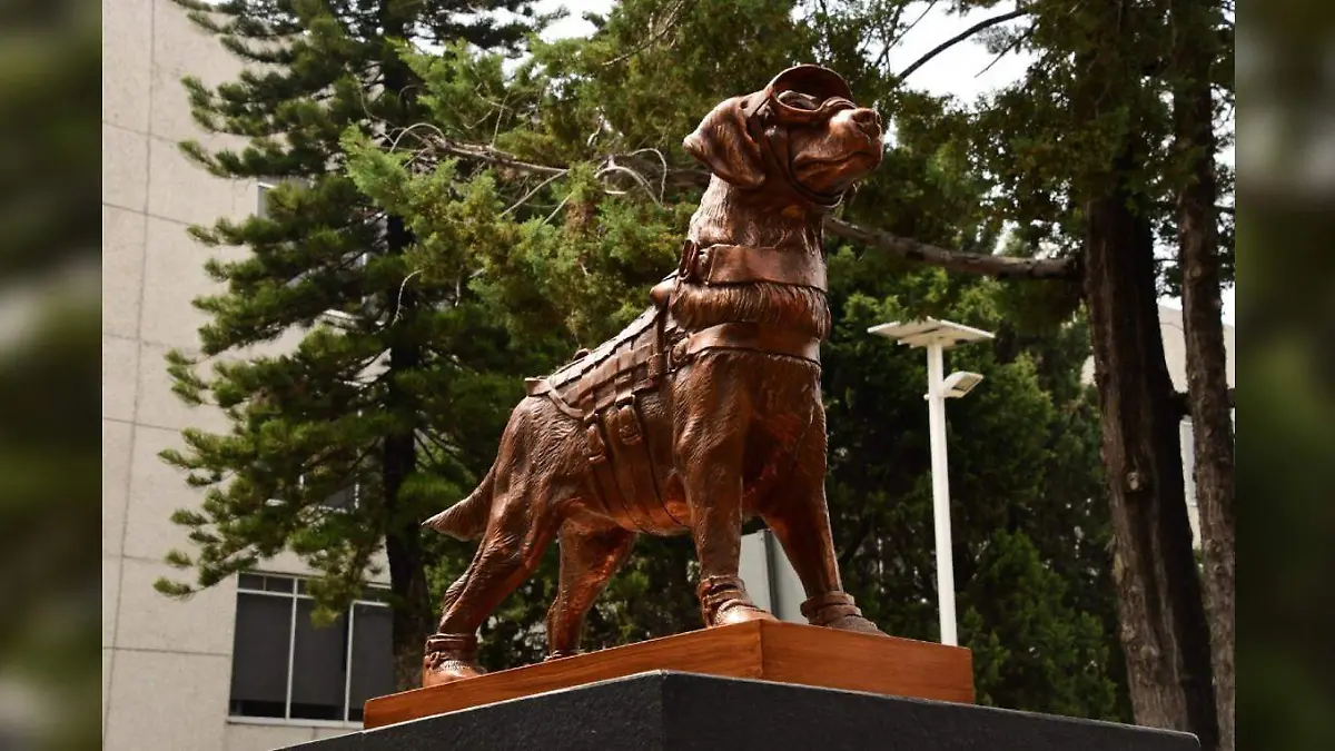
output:
<instances>
[{"instance_id":1,"label":"bronze dog's hind leg nearer to its front legs","mask_svg":"<svg viewBox=\"0 0 1335 751\"><path fill-rule=\"evenodd\" d=\"M585 615L626 563L637 535L618 527L587 529L575 521L561 527L561 584L547 611L547 659L579 651Z\"/></svg>"}]
</instances>

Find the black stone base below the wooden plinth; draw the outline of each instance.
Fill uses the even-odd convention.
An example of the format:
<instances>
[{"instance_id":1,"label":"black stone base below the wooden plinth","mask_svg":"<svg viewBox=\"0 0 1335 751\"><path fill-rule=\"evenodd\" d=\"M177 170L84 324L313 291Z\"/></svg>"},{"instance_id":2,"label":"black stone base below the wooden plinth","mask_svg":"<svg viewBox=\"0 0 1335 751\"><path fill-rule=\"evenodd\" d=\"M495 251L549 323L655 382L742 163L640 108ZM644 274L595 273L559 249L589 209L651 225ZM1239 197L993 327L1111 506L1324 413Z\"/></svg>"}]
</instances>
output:
<instances>
[{"instance_id":1,"label":"black stone base below the wooden plinth","mask_svg":"<svg viewBox=\"0 0 1335 751\"><path fill-rule=\"evenodd\" d=\"M655 671L288 751L1195 751L1193 735Z\"/></svg>"}]
</instances>

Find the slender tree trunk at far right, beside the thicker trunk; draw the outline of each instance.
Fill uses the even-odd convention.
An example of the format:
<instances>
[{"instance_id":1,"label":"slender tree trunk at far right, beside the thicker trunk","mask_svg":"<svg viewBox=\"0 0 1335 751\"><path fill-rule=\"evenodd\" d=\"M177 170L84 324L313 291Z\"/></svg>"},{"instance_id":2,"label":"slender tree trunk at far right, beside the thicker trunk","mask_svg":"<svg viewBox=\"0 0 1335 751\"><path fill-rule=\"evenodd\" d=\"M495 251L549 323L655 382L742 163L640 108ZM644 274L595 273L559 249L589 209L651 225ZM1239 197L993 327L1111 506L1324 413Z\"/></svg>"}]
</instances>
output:
<instances>
[{"instance_id":1,"label":"slender tree trunk at far right, beside the thicker trunk","mask_svg":"<svg viewBox=\"0 0 1335 751\"><path fill-rule=\"evenodd\" d=\"M1173 151L1191 174L1177 200L1187 402L1196 454L1206 608L1219 748L1234 751L1234 424L1219 295L1214 102L1214 3L1173 0Z\"/></svg>"}]
</instances>

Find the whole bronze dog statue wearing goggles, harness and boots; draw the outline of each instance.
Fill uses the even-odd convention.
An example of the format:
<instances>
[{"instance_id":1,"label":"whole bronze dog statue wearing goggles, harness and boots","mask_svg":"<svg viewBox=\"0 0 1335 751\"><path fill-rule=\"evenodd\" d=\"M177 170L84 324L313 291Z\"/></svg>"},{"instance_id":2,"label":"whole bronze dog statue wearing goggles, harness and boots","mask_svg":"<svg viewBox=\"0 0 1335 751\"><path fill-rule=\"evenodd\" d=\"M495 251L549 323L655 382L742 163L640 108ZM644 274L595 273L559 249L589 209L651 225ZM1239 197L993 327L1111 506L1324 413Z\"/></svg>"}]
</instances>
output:
<instances>
[{"instance_id":1,"label":"whole bronze dog statue wearing goggles, harness and boots","mask_svg":"<svg viewBox=\"0 0 1335 751\"><path fill-rule=\"evenodd\" d=\"M716 107L684 146L713 172L654 306L557 373L529 380L482 485L426 521L478 551L445 595L423 686L475 676L477 631L553 537L549 659L635 537L689 532L705 625L773 619L737 576L760 514L816 625L880 633L842 592L825 505L820 342L830 329L821 219L881 162L881 118L816 65Z\"/></svg>"}]
</instances>

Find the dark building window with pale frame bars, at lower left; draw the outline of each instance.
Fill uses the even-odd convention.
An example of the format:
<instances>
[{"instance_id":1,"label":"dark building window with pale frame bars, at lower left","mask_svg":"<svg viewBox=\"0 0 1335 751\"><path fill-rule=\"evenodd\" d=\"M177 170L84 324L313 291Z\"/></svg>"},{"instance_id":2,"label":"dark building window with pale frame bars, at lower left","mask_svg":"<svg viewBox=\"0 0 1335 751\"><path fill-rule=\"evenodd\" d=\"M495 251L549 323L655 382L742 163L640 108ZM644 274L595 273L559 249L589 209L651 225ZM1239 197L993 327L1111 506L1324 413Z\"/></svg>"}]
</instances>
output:
<instances>
[{"instance_id":1,"label":"dark building window with pale frame bars, at lower left","mask_svg":"<svg viewBox=\"0 0 1335 751\"><path fill-rule=\"evenodd\" d=\"M375 597L316 628L304 580L240 575L228 714L362 722L367 699L394 692L390 608Z\"/></svg>"}]
</instances>

